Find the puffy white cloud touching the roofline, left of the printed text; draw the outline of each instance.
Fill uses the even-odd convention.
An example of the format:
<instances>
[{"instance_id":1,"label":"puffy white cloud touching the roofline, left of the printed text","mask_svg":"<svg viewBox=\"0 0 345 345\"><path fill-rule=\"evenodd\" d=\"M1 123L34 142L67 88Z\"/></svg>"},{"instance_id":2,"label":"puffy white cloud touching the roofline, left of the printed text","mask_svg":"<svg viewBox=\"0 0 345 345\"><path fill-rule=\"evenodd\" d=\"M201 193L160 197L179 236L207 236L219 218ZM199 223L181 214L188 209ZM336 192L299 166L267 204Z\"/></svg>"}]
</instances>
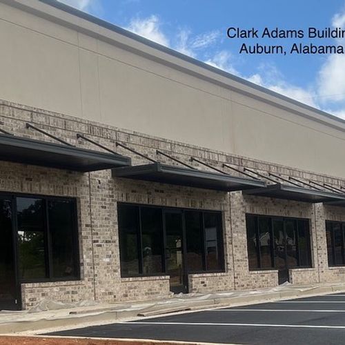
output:
<instances>
[{"instance_id":1,"label":"puffy white cloud touching the roofline, left of the printed text","mask_svg":"<svg viewBox=\"0 0 345 345\"><path fill-rule=\"evenodd\" d=\"M160 29L161 23L159 18L155 15L152 15L144 19L132 19L127 30L139 34L150 41L161 44L162 46L170 46L170 41L168 37Z\"/></svg>"}]
</instances>

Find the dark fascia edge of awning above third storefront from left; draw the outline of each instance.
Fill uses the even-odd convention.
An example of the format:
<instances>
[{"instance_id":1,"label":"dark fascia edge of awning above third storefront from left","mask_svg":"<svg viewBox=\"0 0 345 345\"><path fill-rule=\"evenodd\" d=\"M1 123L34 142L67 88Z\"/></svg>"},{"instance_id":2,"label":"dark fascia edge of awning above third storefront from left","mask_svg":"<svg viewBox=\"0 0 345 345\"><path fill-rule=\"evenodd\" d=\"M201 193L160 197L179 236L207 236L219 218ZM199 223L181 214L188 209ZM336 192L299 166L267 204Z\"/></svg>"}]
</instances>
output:
<instances>
[{"instance_id":1,"label":"dark fascia edge of awning above third storefront from left","mask_svg":"<svg viewBox=\"0 0 345 345\"><path fill-rule=\"evenodd\" d=\"M320 198L325 199L334 199L336 201L329 201L329 202L345 202L345 193L344 195L337 194L337 193L330 193L324 190L312 190L303 187L297 186L287 186L286 184L273 184L270 186L266 186L266 188L257 188L257 189L250 189L244 190L242 193L247 195L256 195L256 194L269 194L271 192L282 190L283 192L290 192L302 195L314 195ZM321 202L321 201L320 201Z\"/></svg>"}]
</instances>

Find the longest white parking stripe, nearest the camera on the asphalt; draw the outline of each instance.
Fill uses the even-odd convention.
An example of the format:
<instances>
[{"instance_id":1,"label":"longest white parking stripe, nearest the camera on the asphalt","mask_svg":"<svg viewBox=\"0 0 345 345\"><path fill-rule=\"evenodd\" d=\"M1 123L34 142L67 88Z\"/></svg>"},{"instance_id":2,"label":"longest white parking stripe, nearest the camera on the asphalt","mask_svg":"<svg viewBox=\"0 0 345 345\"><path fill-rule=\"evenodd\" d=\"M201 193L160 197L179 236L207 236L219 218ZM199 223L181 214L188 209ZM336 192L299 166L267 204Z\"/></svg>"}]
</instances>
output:
<instances>
[{"instance_id":1,"label":"longest white parking stripe, nearest the camera on the asphalt","mask_svg":"<svg viewBox=\"0 0 345 345\"><path fill-rule=\"evenodd\" d=\"M280 327L280 328L324 328L345 329L345 326L300 325L300 324L237 324L219 322L117 322L117 324L147 325L147 326L245 326L245 327Z\"/></svg>"}]
</instances>

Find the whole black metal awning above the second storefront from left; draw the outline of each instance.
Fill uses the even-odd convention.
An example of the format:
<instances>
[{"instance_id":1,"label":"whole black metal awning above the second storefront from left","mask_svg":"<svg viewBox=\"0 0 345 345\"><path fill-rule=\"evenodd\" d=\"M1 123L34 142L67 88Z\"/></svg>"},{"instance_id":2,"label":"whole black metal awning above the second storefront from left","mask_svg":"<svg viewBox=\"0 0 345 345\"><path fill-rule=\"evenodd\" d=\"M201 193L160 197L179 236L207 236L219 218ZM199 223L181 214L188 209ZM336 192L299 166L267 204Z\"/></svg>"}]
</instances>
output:
<instances>
[{"instance_id":1,"label":"whole black metal awning above the second storefront from left","mask_svg":"<svg viewBox=\"0 0 345 345\"><path fill-rule=\"evenodd\" d=\"M175 184L195 188L212 190L244 190L248 188L264 187L264 181L235 177L226 173L209 172L179 166L168 166L161 163L128 166L112 169L113 177L154 181L164 184Z\"/></svg>"}]
</instances>

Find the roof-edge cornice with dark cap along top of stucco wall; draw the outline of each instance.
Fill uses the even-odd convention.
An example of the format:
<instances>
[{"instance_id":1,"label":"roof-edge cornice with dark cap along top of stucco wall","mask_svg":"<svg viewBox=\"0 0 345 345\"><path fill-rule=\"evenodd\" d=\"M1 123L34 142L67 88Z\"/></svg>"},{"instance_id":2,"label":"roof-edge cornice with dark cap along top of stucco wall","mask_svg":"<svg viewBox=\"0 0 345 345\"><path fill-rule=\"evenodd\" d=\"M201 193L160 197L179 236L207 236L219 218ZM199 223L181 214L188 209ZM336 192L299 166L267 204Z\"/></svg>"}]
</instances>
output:
<instances>
[{"instance_id":1,"label":"roof-edge cornice with dark cap along top of stucco wall","mask_svg":"<svg viewBox=\"0 0 345 345\"><path fill-rule=\"evenodd\" d=\"M288 112L345 131L345 120L328 112L291 99L277 92L257 86L224 70L219 70L192 57L181 54L158 43L145 39L123 28L98 19L90 14L67 6L56 0L0 0L1 3L53 21L62 26L96 37L125 50L135 52L170 68L234 90L259 101L277 106Z\"/></svg>"}]
</instances>

